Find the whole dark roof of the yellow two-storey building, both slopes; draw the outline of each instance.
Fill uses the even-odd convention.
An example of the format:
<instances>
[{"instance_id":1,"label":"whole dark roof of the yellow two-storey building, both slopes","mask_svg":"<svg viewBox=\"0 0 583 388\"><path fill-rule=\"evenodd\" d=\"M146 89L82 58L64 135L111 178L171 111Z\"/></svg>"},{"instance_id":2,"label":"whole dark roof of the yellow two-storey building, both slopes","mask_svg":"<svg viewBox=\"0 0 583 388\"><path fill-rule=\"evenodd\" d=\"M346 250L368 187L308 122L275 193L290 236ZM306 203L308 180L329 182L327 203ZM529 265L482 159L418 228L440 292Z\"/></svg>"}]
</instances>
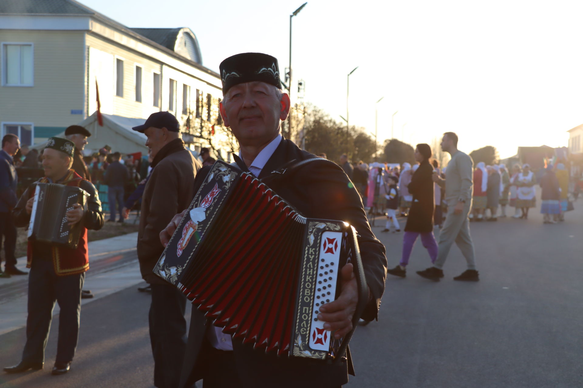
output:
<instances>
[{"instance_id":1,"label":"whole dark roof of the yellow two-storey building, both slopes","mask_svg":"<svg viewBox=\"0 0 583 388\"><path fill-rule=\"evenodd\" d=\"M177 39L177 29L130 29L115 20L94 11L93 9L79 3L75 0L0 0L0 14L8 15L83 15L93 16L101 22L114 26L136 38L149 42L154 46L159 45L170 50L175 56L187 60L196 67L213 76L219 77L219 74L210 70L200 63L190 58L174 52L174 44Z\"/></svg>"}]
</instances>

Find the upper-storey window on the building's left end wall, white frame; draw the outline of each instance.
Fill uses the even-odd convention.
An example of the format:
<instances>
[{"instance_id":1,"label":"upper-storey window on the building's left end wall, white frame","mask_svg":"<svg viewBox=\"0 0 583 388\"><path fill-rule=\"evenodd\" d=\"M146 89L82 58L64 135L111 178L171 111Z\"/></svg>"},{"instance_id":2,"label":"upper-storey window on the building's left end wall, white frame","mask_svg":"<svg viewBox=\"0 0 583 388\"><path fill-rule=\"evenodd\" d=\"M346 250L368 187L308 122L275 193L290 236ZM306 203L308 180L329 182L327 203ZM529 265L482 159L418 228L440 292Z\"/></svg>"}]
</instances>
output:
<instances>
[{"instance_id":1,"label":"upper-storey window on the building's left end wall, white frame","mask_svg":"<svg viewBox=\"0 0 583 388\"><path fill-rule=\"evenodd\" d=\"M2 43L2 85L33 86L33 45Z\"/></svg>"}]
</instances>

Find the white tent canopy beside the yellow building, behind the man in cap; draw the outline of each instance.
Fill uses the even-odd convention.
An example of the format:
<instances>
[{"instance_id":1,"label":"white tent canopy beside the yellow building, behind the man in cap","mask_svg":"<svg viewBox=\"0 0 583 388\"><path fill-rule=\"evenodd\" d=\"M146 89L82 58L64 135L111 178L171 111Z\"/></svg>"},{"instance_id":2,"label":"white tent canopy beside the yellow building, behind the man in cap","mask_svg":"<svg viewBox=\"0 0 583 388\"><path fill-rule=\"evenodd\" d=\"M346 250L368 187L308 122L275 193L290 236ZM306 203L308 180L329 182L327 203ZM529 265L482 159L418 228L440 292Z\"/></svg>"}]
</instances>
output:
<instances>
[{"instance_id":1,"label":"white tent canopy beside the yellow building, behind the man in cap","mask_svg":"<svg viewBox=\"0 0 583 388\"><path fill-rule=\"evenodd\" d=\"M132 130L132 127L145 123L145 119L125 118L104 113L101 113L101 116L103 116L103 127L97 122L97 112L78 124L91 133L91 137L87 139L89 144L85 147L83 154L90 155L107 144L113 152L118 151L122 154L142 152L143 155L147 155L146 135ZM62 132L57 136L65 137L65 133ZM40 149L44 146L45 143L41 143L31 148Z\"/></svg>"}]
</instances>

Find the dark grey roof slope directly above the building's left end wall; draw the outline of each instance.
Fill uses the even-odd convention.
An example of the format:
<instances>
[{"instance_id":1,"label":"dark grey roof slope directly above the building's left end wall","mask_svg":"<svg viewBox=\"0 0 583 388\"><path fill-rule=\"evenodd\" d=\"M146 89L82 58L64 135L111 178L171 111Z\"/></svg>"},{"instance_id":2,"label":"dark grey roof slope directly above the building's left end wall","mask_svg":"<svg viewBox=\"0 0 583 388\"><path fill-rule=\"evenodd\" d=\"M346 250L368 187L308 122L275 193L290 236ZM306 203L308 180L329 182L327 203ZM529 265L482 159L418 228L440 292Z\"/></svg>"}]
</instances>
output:
<instances>
[{"instance_id":1,"label":"dark grey roof slope directly above the building's left end wall","mask_svg":"<svg viewBox=\"0 0 583 388\"><path fill-rule=\"evenodd\" d=\"M2 0L0 1L0 13L12 13L15 15L26 13L87 15L95 12L79 3L66 0Z\"/></svg>"}]
</instances>

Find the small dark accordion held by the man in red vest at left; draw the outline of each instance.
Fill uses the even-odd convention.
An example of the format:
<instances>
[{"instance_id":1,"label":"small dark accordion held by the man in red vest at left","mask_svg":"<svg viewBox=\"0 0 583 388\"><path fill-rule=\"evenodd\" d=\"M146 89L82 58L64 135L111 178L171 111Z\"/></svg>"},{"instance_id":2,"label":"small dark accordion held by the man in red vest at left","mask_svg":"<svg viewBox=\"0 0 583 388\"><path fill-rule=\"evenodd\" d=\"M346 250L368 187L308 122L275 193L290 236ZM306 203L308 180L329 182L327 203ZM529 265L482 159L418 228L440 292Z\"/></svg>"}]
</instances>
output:
<instances>
[{"instance_id":1,"label":"small dark accordion held by the man in red vest at left","mask_svg":"<svg viewBox=\"0 0 583 388\"><path fill-rule=\"evenodd\" d=\"M29 240L76 249L82 222L69 226L66 212L74 204L85 207L89 193L75 186L56 183L34 184L33 211L30 213Z\"/></svg>"}]
</instances>

